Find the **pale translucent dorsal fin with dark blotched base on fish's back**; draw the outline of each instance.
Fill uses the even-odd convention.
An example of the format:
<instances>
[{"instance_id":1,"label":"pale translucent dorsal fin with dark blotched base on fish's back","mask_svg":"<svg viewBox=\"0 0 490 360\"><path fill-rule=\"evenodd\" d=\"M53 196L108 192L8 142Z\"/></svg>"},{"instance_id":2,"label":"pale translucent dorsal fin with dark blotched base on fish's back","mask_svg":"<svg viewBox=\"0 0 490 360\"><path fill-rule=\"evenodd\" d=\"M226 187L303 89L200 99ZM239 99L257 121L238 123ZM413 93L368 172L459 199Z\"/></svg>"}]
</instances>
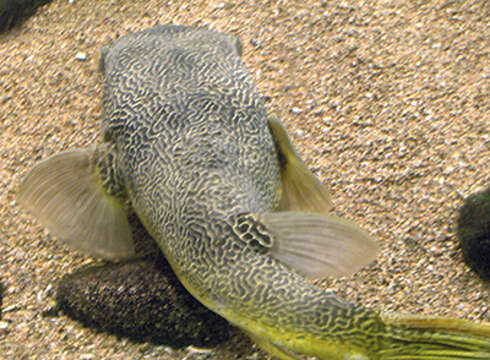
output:
<instances>
[{"instance_id":1,"label":"pale translucent dorsal fin with dark blotched base on fish's back","mask_svg":"<svg viewBox=\"0 0 490 360\"><path fill-rule=\"evenodd\" d=\"M349 275L376 258L374 240L338 217L285 211L259 218L272 235L270 255L308 278Z\"/></svg>"}]
</instances>

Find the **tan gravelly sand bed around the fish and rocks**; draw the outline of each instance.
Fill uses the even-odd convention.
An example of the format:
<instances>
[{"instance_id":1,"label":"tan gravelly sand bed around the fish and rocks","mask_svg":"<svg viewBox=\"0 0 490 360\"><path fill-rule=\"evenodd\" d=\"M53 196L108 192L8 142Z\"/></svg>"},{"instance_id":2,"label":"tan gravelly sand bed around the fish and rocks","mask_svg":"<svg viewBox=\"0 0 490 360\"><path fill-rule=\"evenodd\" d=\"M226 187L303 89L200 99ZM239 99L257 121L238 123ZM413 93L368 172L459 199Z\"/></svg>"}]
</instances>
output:
<instances>
[{"instance_id":1,"label":"tan gravelly sand bed around the fish and rocks","mask_svg":"<svg viewBox=\"0 0 490 360\"><path fill-rule=\"evenodd\" d=\"M16 188L36 161L100 139L99 48L167 22L240 36L336 212L376 237L374 264L323 286L367 306L490 321L489 286L454 236L463 197L490 183L490 5L427 3L58 0L0 35L0 359L267 358L242 337L202 355L42 316L57 281L93 260L23 212Z\"/></svg>"}]
</instances>

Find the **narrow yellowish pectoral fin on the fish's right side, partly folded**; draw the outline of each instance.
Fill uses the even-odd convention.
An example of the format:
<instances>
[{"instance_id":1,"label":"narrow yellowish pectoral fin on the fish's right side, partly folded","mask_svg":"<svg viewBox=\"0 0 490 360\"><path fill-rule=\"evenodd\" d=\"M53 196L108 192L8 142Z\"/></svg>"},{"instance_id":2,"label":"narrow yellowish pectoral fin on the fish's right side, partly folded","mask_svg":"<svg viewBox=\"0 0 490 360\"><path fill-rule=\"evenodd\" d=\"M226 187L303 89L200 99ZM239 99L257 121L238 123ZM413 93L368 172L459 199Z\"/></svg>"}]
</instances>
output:
<instances>
[{"instance_id":1,"label":"narrow yellowish pectoral fin on the fish's right side, partly folded","mask_svg":"<svg viewBox=\"0 0 490 360\"><path fill-rule=\"evenodd\" d=\"M268 123L281 165L282 197L277 210L328 213L332 208L328 189L298 156L281 122L270 116Z\"/></svg>"}]
</instances>

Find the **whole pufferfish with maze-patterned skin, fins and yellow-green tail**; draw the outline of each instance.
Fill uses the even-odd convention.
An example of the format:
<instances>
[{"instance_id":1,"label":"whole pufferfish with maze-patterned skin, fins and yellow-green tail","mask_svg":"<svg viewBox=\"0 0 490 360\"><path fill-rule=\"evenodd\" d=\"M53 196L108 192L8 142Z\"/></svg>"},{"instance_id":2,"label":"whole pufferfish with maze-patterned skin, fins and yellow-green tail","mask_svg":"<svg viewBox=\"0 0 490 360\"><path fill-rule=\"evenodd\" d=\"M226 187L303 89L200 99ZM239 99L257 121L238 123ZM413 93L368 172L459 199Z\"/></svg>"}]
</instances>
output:
<instances>
[{"instance_id":1,"label":"whole pufferfish with maze-patterned skin, fins and yellow-green tail","mask_svg":"<svg viewBox=\"0 0 490 360\"><path fill-rule=\"evenodd\" d=\"M184 287L280 359L489 359L490 326L351 304L309 279L376 244L268 116L240 41L163 25L102 51L104 142L39 163L19 200L73 247L134 256L124 201Z\"/></svg>"}]
</instances>

